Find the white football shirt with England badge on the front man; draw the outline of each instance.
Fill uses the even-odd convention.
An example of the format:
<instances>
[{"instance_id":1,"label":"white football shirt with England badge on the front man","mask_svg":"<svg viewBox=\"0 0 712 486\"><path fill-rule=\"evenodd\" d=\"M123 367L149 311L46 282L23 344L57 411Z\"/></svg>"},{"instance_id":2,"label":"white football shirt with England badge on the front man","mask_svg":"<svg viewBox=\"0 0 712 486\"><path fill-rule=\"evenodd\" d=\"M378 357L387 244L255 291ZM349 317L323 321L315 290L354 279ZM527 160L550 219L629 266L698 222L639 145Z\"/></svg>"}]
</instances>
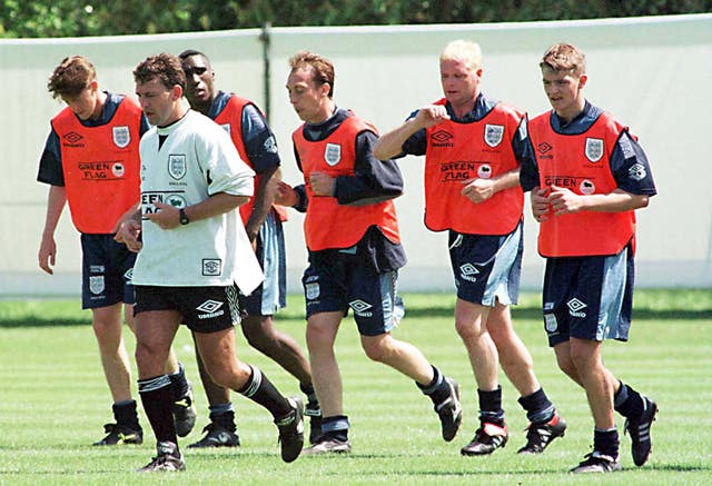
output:
<instances>
[{"instance_id":1,"label":"white football shirt with England badge on the front man","mask_svg":"<svg viewBox=\"0 0 712 486\"><path fill-rule=\"evenodd\" d=\"M159 148L159 137L165 140ZM184 208L218 192L253 196L255 172L230 137L204 115L189 110L169 127L154 127L140 142L141 214L157 201ZM263 272L237 209L174 229L144 219L144 247L134 266L135 285L228 286L248 295Z\"/></svg>"}]
</instances>

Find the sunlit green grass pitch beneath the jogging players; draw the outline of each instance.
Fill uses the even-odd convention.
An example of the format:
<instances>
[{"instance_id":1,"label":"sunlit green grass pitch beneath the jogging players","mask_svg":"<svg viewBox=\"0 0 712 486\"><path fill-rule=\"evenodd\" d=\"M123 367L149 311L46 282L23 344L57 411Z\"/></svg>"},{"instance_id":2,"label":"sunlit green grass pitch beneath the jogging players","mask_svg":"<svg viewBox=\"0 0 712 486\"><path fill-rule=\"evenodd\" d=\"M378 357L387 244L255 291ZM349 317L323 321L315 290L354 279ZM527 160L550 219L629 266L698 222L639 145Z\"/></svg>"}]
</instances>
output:
<instances>
[{"instance_id":1,"label":"sunlit green grass pitch beneath the jogging players","mask_svg":"<svg viewBox=\"0 0 712 486\"><path fill-rule=\"evenodd\" d=\"M583 391L555 367L542 330L538 297L525 295L514 311L517 331L534 356L540 381L568 421L566 437L537 457L520 457L524 414L517 394L502 376L510 444L488 457L462 457L459 448L476 427L476 390L465 349L456 336L451 295L407 295L408 313L394 333L418 346L459 383L465 406L461 434L439 438L429 400L394 370L370 363L350 319L342 325L337 355L344 378L345 411L352 421L354 453L301 457L285 465L277 435L260 407L233 395L243 440L240 449L199 450L185 446L200 437L207 405L199 385L190 338L177 336L176 349L196 387L198 424L181 440L187 472L138 475L132 470L154 454L145 416L146 443L96 448L101 426L111 421L110 398L101 373L89 314L63 300L0 301L0 484L467 484L467 485L705 485L712 484L712 292L639 290L629 344L605 346L607 366L660 406L654 449L636 468L630 439L622 436L623 472L573 477L566 470L590 450L592 420ZM290 297L279 326L304 344L301 299ZM134 337L126 330L129 349ZM285 394L298 394L296 380L237 338L238 354L261 367ZM623 419L619 421L622 434Z\"/></svg>"}]
</instances>

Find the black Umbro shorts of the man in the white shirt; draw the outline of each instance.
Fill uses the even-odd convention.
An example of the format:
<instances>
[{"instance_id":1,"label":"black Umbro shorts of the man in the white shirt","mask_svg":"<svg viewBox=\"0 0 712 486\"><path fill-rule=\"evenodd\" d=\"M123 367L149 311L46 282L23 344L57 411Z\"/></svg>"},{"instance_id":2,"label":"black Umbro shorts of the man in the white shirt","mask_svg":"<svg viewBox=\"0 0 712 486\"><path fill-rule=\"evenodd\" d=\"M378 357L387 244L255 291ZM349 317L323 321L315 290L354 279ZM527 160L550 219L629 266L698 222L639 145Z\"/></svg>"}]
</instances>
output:
<instances>
[{"instance_id":1,"label":"black Umbro shorts of the man in the white shirt","mask_svg":"<svg viewBox=\"0 0 712 486\"><path fill-rule=\"evenodd\" d=\"M157 287L136 286L134 315L150 310L177 310L181 324L195 333L216 333L240 321L237 286Z\"/></svg>"}]
</instances>

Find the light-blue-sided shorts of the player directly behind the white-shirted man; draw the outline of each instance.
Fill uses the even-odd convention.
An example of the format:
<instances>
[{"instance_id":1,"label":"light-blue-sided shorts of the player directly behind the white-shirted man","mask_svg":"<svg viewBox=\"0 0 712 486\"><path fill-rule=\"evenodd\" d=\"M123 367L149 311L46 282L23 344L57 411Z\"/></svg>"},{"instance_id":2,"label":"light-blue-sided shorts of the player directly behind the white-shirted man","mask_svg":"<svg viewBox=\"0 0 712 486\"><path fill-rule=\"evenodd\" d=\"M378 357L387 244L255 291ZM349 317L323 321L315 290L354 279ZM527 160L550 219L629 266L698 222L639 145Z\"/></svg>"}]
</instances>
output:
<instances>
[{"instance_id":1,"label":"light-blue-sided shorts of the player directly behind the white-shirted man","mask_svg":"<svg viewBox=\"0 0 712 486\"><path fill-rule=\"evenodd\" d=\"M257 260L265 280L249 296L240 295L240 309L248 316L271 316L287 305L285 234L274 209L257 235Z\"/></svg>"}]
</instances>

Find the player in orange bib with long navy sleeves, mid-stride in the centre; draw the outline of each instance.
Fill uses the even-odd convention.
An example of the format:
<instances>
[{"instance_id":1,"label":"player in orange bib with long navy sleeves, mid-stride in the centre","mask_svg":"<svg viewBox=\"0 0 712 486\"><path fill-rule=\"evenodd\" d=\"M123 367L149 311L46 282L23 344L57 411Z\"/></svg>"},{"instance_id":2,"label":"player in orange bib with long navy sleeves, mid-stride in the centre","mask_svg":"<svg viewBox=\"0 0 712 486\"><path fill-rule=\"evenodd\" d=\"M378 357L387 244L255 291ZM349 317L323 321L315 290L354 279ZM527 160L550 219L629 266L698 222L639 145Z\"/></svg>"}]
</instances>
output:
<instances>
[{"instance_id":1,"label":"player in orange bib with long navy sleeves, mid-stride in the centre","mask_svg":"<svg viewBox=\"0 0 712 486\"><path fill-rule=\"evenodd\" d=\"M349 307L366 355L415 380L433 400L443 438L449 442L462 420L457 383L413 345L390 334L404 313L396 281L405 254L392 201L403 191L400 171L393 161L374 158L373 125L336 107L334 66L328 59L298 52L289 65L289 101L305 122L293 141L306 184L293 188L281 182L277 198L306 210L307 346L323 413L322 437L305 454L352 448L334 354L336 334Z\"/></svg>"}]
</instances>

